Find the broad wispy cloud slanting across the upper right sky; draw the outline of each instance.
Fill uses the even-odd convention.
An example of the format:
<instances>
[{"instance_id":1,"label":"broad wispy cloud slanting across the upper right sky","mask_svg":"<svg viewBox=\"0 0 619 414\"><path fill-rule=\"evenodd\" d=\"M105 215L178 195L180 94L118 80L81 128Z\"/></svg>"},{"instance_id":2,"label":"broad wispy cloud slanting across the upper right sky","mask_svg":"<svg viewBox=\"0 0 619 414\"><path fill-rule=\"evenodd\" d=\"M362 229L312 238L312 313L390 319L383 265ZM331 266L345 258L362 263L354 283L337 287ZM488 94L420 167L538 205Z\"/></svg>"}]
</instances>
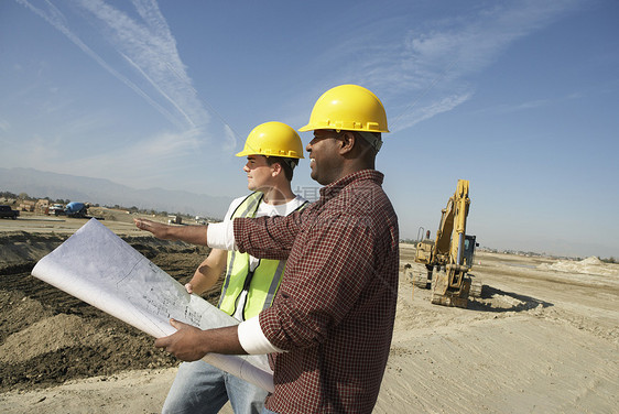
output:
<instances>
[{"instance_id":1,"label":"broad wispy cloud slanting across the upper right sky","mask_svg":"<svg viewBox=\"0 0 619 414\"><path fill-rule=\"evenodd\" d=\"M475 91L474 77L503 51L580 3L526 0L490 3L420 24L410 15L394 19L389 43L379 47L372 37L384 37L374 31L361 36L356 47L347 44L357 55L365 51L357 73L350 75L390 102L390 129L405 129L466 102Z\"/></svg>"}]
</instances>

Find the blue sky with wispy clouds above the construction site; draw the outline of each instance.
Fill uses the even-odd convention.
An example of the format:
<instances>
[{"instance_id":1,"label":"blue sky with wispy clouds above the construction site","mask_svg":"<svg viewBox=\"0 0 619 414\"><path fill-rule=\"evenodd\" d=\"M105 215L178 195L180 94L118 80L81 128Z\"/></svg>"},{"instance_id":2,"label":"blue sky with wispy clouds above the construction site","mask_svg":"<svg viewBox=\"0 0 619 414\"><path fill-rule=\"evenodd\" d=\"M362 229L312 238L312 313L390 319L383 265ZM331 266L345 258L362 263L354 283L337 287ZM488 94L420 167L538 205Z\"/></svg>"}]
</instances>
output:
<instances>
[{"instance_id":1,"label":"blue sky with wispy clouds above the construction site","mask_svg":"<svg viewBox=\"0 0 619 414\"><path fill-rule=\"evenodd\" d=\"M254 126L359 84L402 238L466 178L482 246L618 258L618 21L615 0L3 0L0 165L236 197Z\"/></svg>"}]
</instances>

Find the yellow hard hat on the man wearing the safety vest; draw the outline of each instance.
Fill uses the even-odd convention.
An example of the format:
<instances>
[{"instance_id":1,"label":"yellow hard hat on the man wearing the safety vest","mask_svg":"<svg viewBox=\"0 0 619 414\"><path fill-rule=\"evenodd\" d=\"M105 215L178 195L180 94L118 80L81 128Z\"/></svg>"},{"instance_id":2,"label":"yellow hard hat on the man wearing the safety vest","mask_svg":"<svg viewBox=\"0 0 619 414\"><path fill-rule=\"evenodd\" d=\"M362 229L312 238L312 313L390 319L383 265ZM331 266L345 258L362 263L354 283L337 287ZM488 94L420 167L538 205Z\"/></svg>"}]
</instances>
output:
<instances>
[{"instance_id":1,"label":"yellow hard hat on the man wearing the safety vest","mask_svg":"<svg viewBox=\"0 0 619 414\"><path fill-rule=\"evenodd\" d=\"M265 155L303 159L303 143L298 133L282 122L264 122L256 127L237 156Z\"/></svg>"}]
</instances>

